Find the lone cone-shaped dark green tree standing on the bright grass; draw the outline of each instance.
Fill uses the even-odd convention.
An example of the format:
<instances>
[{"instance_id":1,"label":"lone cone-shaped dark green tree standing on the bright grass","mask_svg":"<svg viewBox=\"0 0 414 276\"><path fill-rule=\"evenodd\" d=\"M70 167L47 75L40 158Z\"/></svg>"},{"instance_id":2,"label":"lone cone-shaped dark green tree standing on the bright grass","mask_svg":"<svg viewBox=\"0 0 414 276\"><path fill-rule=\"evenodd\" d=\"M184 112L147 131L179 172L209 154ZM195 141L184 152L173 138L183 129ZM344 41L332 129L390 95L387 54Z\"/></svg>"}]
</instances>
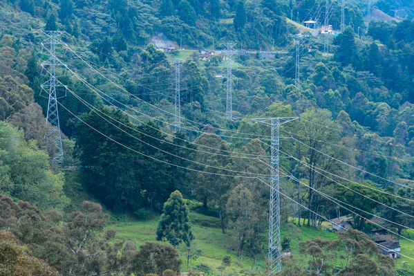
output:
<instances>
[{"instance_id":1,"label":"lone cone-shaped dark green tree standing on the bright grass","mask_svg":"<svg viewBox=\"0 0 414 276\"><path fill-rule=\"evenodd\" d=\"M164 203L162 215L158 221L157 240L167 239L174 247L180 243L190 246L194 239L191 225L189 223L188 208L182 200L180 192L171 193L171 196Z\"/></svg>"}]
</instances>

